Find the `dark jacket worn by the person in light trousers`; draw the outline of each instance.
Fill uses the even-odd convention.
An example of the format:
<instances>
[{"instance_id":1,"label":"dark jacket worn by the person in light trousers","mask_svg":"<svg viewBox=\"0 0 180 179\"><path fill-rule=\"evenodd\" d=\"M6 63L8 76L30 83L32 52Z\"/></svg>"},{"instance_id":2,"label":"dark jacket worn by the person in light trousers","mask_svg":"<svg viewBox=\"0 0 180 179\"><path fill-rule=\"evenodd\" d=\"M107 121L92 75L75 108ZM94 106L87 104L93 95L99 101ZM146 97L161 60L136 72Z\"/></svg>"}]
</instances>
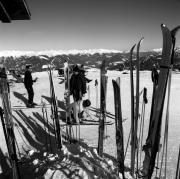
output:
<instances>
[{"instance_id":1,"label":"dark jacket worn by the person in light trousers","mask_svg":"<svg viewBox=\"0 0 180 179\"><path fill-rule=\"evenodd\" d=\"M70 95L73 95L74 100L82 99L82 95L86 93L86 80L83 74L73 74L70 79Z\"/></svg>"}]
</instances>

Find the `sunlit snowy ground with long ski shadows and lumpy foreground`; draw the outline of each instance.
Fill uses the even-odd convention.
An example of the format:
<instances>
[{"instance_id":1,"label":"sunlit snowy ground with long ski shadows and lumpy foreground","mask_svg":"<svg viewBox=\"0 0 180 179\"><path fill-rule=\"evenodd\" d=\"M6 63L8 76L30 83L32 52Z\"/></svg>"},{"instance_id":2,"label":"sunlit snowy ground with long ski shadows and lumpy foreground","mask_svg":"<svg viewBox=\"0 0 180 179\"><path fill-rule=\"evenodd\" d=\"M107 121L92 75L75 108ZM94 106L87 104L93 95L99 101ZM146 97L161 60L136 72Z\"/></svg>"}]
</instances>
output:
<instances>
[{"instance_id":1,"label":"sunlit snowy ground with long ski shadows and lumpy foreground","mask_svg":"<svg viewBox=\"0 0 180 179\"><path fill-rule=\"evenodd\" d=\"M122 115L127 119L123 123L125 146L127 143L130 131L130 81L129 74L123 74L117 71L108 71L108 88L107 88L107 110L114 113L114 94L112 79L121 77L121 96L122 96ZM34 84L35 97L34 101L38 104L43 99L49 103L49 80L47 72L34 73L33 77L38 77L38 81ZM90 99L92 106L96 107L96 87L94 86L95 79L99 80L99 70L90 69L87 77L93 79L89 83ZM140 89L146 87L148 89L148 104L146 106L145 127L148 127L149 113L151 107L152 83L151 73L141 72ZM64 112L64 83L63 78L58 77L57 71L53 73L56 96L61 111L61 116L65 117ZM168 178L173 178L177 163L177 151L179 147L179 101L180 99L180 78L179 74L173 74L172 80L172 98L170 108L170 129L169 129L169 148L168 148ZM15 83L11 80L11 102L12 106L24 106L27 99L26 90L22 83ZM99 96L99 94L98 94ZM88 94L85 99L88 98ZM48 107L48 106L47 106ZM141 104L140 104L141 107ZM50 116L50 108L47 108ZM90 112L91 113L91 112ZM95 118L91 113L92 118ZM81 126L80 138L81 142L77 144L68 144L64 142L63 150L57 154L57 151L50 151L50 147L45 145L46 135L44 130L42 109L22 109L13 110L13 120L15 123L15 135L22 157L21 172L26 175L24 178L75 178L75 175L80 175L79 178L118 178L117 167L114 162L116 158L115 145L115 128L114 125L107 126L104 153L105 158L99 158L96 154L98 139L98 126ZM108 120L112 120L108 118ZM112 120L113 121L113 120ZM65 127L63 128L65 131ZM52 130L52 129L51 129ZM76 133L76 128L74 128ZM144 141L147 130L145 130ZM163 133L162 133L163 135ZM2 127L0 124L1 136L1 161L6 161L6 145L3 136ZM55 145L54 138L51 136L52 145ZM33 154L31 152L35 151ZM31 151L29 153L29 151ZM46 151L48 153L46 154ZM22 155L23 154L23 155ZM25 160L26 158L26 160ZM28 159L27 159L28 158ZM130 147L126 156L126 166L130 162ZM1 162L1 170L7 171L7 162ZM0 171L1 171L0 170ZM126 173L128 175L128 173ZM128 177L130 178L130 176Z\"/></svg>"}]
</instances>

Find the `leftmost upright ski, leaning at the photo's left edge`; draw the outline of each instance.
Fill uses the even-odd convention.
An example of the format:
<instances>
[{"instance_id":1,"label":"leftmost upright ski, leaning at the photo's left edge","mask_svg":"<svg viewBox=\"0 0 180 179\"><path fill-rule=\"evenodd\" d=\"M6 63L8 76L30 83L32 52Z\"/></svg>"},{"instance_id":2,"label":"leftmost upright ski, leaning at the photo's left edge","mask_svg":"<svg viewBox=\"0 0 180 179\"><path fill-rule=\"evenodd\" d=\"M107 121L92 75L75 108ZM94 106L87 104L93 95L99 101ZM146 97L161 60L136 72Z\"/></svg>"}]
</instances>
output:
<instances>
[{"instance_id":1,"label":"leftmost upright ski, leaning at the photo's left edge","mask_svg":"<svg viewBox=\"0 0 180 179\"><path fill-rule=\"evenodd\" d=\"M14 135L14 123L12 118L10 91L5 68L0 68L0 97L3 110L0 110L6 145L12 165L13 179L20 179L18 157L16 154L16 139Z\"/></svg>"}]
</instances>

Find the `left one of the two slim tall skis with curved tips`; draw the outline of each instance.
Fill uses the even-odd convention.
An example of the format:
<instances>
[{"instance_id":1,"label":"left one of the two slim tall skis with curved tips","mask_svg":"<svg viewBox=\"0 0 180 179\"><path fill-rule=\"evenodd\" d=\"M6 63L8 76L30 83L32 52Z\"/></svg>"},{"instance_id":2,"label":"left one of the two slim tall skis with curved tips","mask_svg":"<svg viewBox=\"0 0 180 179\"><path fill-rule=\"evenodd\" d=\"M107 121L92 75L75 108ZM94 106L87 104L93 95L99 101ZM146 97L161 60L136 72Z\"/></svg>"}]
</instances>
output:
<instances>
[{"instance_id":1,"label":"left one of the two slim tall skis with curved tips","mask_svg":"<svg viewBox=\"0 0 180 179\"><path fill-rule=\"evenodd\" d=\"M133 79L133 50L136 45L134 45L130 50L130 88L131 88L131 171L134 173L134 163L135 163L135 137L134 137L134 79Z\"/></svg>"}]
</instances>

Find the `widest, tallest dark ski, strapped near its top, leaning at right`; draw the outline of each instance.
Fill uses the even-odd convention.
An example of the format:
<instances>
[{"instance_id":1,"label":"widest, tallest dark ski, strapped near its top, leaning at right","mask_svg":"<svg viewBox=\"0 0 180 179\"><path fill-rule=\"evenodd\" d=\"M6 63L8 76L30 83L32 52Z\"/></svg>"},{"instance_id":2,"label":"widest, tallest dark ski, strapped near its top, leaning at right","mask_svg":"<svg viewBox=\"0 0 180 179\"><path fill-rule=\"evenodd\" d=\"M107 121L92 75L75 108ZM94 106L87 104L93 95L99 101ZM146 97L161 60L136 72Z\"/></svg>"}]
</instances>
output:
<instances>
[{"instance_id":1,"label":"widest, tallest dark ski, strapped near its top, leaning at right","mask_svg":"<svg viewBox=\"0 0 180 179\"><path fill-rule=\"evenodd\" d=\"M171 65L171 32L164 24L161 25L161 30L163 35L162 60L160 61L159 79L154 96L154 106L149 127L149 136L146 140L146 144L143 146L145 157L143 161L142 173L145 176L145 179L150 179L153 174L156 154L159 149L164 98L166 94L169 68Z\"/></svg>"}]
</instances>

